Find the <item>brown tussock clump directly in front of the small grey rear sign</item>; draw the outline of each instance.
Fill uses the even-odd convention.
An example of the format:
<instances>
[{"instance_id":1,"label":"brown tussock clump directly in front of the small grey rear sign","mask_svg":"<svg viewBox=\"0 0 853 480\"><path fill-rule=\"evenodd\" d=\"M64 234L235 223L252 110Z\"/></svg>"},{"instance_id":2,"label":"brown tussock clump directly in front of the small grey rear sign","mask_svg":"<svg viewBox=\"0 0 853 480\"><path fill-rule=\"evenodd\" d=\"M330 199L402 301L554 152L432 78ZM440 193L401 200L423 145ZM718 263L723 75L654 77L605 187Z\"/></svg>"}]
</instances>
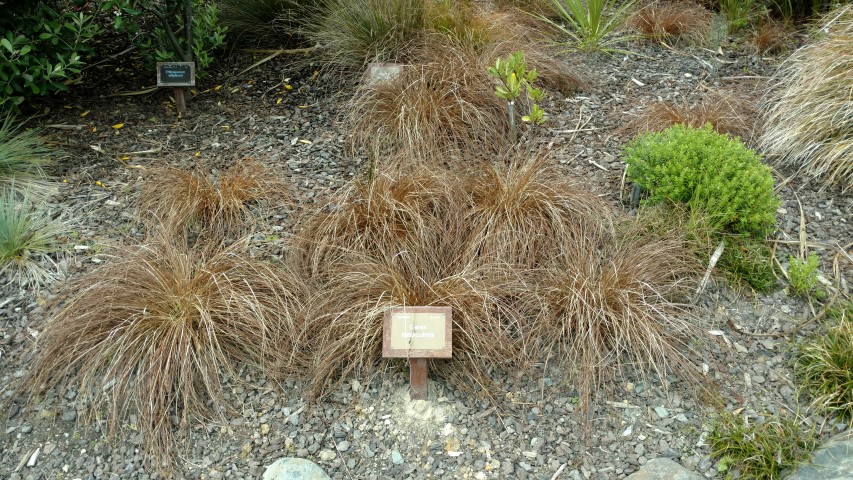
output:
<instances>
[{"instance_id":1,"label":"brown tussock clump directly in front of the small grey rear sign","mask_svg":"<svg viewBox=\"0 0 853 480\"><path fill-rule=\"evenodd\" d=\"M447 44L395 80L362 88L353 101L353 145L376 158L389 152L443 162L496 151L509 136L506 105L470 49Z\"/></svg>"}]
</instances>

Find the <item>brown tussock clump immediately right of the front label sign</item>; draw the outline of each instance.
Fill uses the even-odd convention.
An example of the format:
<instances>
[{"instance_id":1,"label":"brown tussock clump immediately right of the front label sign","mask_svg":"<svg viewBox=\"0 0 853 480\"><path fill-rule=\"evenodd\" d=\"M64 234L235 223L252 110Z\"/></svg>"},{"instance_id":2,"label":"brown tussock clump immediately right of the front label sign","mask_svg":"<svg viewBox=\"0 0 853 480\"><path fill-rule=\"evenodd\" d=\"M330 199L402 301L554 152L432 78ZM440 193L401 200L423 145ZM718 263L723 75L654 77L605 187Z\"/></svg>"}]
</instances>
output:
<instances>
[{"instance_id":1,"label":"brown tussock clump immediately right of the front label sign","mask_svg":"<svg viewBox=\"0 0 853 480\"><path fill-rule=\"evenodd\" d=\"M582 406L626 367L646 380L671 369L698 384L686 343L694 327L678 303L695 288L698 263L677 235L638 221L617 230L617 240L575 242L534 272L541 312L526 331L528 353L564 369Z\"/></svg>"}]
</instances>

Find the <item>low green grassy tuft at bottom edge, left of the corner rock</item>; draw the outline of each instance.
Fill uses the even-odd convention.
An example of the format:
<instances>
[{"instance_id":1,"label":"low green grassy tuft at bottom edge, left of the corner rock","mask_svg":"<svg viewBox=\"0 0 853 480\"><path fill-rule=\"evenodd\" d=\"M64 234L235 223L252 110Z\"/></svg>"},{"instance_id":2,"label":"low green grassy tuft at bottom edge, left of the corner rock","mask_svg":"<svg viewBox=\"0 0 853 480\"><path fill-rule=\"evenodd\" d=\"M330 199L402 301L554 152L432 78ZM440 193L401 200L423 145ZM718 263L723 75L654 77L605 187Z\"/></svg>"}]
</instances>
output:
<instances>
[{"instance_id":1,"label":"low green grassy tuft at bottom edge, left of the corner rock","mask_svg":"<svg viewBox=\"0 0 853 480\"><path fill-rule=\"evenodd\" d=\"M749 417L724 413L708 434L717 471L726 478L778 479L782 472L806 461L817 446L814 429L805 430L796 417Z\"/></svg>"}]
</instances>

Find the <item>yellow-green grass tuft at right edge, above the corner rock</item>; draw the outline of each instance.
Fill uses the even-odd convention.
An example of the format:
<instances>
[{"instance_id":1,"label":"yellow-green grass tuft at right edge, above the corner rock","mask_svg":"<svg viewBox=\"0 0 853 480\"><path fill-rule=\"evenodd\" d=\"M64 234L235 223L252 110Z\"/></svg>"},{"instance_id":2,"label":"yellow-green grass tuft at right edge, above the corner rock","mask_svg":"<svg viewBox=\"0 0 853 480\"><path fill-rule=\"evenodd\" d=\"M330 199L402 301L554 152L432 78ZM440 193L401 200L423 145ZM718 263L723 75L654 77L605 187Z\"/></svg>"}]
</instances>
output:
<instances>
[{"instance_id":1,"label":"yellow-green grass tuft at right edge, above the corner rock","mask_svg":"<svg viewBox=\"0 0 853 480\"><path fill-rule=\"evenodd\" d=\"M853 422L853 302L829 310L826 332L797 347L794 373L812 405Z\"/></svg>"}]
</instances>

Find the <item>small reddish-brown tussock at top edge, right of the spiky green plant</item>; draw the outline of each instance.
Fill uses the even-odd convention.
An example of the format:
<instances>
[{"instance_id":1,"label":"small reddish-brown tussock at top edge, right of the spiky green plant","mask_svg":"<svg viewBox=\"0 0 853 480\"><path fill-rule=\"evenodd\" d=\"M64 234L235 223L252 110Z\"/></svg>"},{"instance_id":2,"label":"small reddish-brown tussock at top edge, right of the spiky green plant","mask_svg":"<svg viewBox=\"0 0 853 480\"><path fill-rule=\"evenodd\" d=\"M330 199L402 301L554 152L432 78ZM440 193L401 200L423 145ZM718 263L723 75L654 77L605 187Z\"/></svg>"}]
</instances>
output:
<instances>
[{"instance_id":1,"label":"small reddish-brown tussock at top edge, right of the spiky green plant","mask_svg":"<svg viewBox=\"0 0 853 480\"><path fill-rule=\"evenodd\" d=\"M655 42L670 39L704 42L711 33L711 12L689 1L652 2L628 20L644 38Z\"/></svg>"}]
</instances>

